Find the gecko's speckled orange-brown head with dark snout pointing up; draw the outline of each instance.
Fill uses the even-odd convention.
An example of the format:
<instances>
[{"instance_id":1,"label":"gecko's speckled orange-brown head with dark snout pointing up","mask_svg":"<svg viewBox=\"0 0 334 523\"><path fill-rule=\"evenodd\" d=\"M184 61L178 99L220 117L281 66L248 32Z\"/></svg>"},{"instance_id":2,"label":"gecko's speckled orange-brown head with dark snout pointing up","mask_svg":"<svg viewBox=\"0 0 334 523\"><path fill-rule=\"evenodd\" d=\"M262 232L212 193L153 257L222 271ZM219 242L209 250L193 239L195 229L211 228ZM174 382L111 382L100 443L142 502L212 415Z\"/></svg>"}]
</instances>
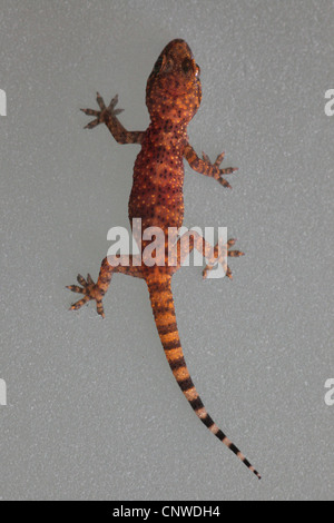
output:
<instances>
[{"instance_id":1,"label":"gecko's speckled orange-brown head with dark snout pointing up","mask_svg":"<svg viewBox=\"0 0 334 523\"><path fill-rule=\"evenodd\" d=\"M185 40L171 40L161 51L146 87L150 116L190 121L202 99L200 69Z\"/></svg>"}]
</instances>

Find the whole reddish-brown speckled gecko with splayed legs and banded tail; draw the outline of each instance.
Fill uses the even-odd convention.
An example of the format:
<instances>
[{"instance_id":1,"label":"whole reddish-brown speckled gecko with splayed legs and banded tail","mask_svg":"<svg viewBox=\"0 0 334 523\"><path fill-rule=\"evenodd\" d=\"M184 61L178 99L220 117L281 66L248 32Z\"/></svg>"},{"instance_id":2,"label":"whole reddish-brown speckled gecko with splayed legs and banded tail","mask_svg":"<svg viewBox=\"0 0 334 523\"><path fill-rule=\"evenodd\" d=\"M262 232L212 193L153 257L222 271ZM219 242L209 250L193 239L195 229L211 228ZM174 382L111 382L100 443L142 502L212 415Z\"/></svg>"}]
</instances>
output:
<instances>
[{"instance_id":1,"label":"whole reddish-brown speckled gecko with splayed legs and banded tail","mask_svg":"<svg viewBox=\"0 0 334 523\"><path fill-rule=\"evenodd\" d=\"M194 233L189 236L188 251L185 253L180 246L180 238L177 238L176 264L168 264L168 228L179 229L184 218L184 159L195 171L214 178L226 188L230 188L230 185L225 176L237 170L233 167L220 168L224 152L212 162L204 152L202 158L198 157L189 144L187 126L197 112L200 101L200 68L186 41L175 39L164 48L147 80L146 105L150 122L145 131L129 131L121 125L117 118L122 111L116 107L118 96L112 98L109 106L106 106L102 97L97 93L99 110L81 109L86 115L94 117L86 128L94 129L105 124L117 142L141 146L134 167L132 188L128 204L129 220L132 224L134 218L140 218L141 231L148 227L163 229L166 263L147 266L141 262L138 265L134 263L134 255L130 255L127 257L127 264L112 264L107 256L101 263L97 283L89 274L86 279L78 275L79 286L70 285L67 288L84 295L71 305L72 310L79 309L89 300L95 300L97 313L105 317L102 298L108 290L112 274L143 278L148 287L156 327L167 362L183 394L202 423L261 478L259 473L216 425L204 406L186 365L176 323L171 277L181 267L189 251L197 249L204 256L207 244L204 237ZM227 256L244 255L240 250L232 249L235 241L235 239L229 239L225 244L224 259ZM147 240L143 241L141 249L144 250L147 245ZM203 276L206 277L214 268L215 262L224 264L224 259L216 244L214 257L209 258ZM232 270L226 263L225 269L226 276L232 278Z\"/></svg>"}]
</instances>

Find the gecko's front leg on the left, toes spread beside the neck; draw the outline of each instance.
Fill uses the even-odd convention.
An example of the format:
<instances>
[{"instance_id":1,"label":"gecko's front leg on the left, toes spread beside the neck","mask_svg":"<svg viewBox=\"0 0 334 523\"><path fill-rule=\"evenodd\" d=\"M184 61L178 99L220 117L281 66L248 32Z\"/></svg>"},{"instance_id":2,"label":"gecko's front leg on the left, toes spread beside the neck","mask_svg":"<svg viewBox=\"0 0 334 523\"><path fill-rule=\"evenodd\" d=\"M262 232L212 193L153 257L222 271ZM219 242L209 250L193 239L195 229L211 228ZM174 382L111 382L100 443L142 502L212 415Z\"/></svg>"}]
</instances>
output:
<instances>
[{"instance_id":1,"label":"gecko's front leg on the left, toes spread beside the neck","mask_svg":"<svg viewBox=\"0 0 334 523\"><path fill-rule=\"evenodd\" d=\"M97 102L100 108L99 111L95 109L81 109L85 115L96 117L95 120L87 124L85 129L94 129L100 124L106 124L118 144L141 144L144 131L128 131L117 118L117 115L124 111L124 109L115 109L118 102L118 95L116 95L110 101L109 106L106 107L102 97L98 92Z\"/></svg>"}]
</instances>

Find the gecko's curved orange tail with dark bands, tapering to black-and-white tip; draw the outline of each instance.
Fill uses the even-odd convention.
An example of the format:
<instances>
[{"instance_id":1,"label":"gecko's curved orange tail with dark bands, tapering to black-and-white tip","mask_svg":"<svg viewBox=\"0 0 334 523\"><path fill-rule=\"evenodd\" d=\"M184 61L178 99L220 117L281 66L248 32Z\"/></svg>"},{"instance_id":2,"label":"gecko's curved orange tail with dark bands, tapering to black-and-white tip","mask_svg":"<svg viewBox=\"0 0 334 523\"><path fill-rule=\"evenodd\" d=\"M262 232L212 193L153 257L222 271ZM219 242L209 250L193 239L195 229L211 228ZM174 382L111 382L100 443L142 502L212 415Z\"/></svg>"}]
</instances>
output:
<instances>
[{"instance_id":1,"label":"gecko's curved orange tail with dark bands, tapering to black-and-white tip","mask_svg":"<svg viewBox=\"0 0 334 523\"><path fill-rule=\"evenodd\" d=\"M147 279L147 286L156 326L174 377L202 423L261 480L259 473L215 424L195 388L180 345L170 282L170 275L159 273L158 277Z\"/></svg>"}]
</instances>

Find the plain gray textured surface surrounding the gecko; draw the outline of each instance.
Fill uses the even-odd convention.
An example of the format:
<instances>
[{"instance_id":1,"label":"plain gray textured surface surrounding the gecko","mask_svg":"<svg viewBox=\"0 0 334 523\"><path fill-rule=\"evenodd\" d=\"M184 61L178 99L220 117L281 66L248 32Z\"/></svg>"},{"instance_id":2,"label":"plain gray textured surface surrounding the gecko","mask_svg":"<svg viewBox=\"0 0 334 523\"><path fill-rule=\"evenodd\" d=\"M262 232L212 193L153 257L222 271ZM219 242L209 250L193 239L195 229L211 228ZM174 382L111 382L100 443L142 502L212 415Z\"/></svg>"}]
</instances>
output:
<instances>
[{"instance_id":1,"label":"plain gray textured surface surrounding the gecko","mask_svg":"<svg viewBox=\"0 0 334 523\"><path fill-rule=\"evenodd\" d=\"M0 1L0 497L330 500L334 406L333 1ZM137 146L84 131L80 107L119 93L148 124L145 86L184 38L204 98L195 149L226 151L233 191L186 167L185 225L227 226L234 282L174 279L185 356L258 482L191 413L145 284L115 276L107 318L68 312L127 226Z\"/></svg>"}]
</instances>

